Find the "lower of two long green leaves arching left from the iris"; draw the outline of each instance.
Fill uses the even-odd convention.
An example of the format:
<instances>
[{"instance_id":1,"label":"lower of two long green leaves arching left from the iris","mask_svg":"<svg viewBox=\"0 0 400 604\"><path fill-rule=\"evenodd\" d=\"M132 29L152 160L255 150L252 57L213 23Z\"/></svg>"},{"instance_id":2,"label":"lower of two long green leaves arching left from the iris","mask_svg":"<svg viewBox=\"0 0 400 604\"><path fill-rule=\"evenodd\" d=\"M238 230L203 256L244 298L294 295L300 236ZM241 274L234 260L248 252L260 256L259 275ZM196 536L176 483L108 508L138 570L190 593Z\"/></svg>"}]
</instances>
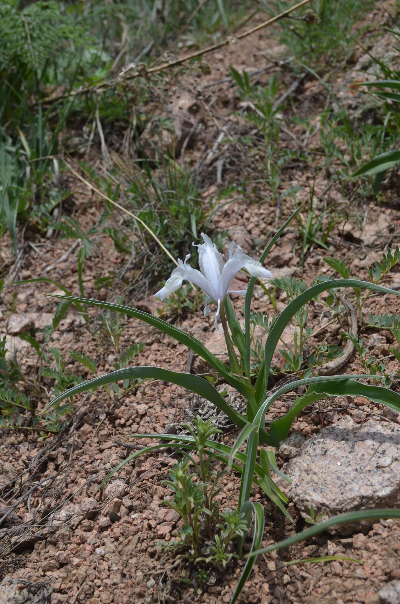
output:
<instances>
[{"instance_id":1,"label":"lower of two long green leaves arching left from the iris","mask_svg":"<svg viewBox=\"0 0 400 604\"><path fill-rule=\"evenodd\" d=\"M43 411L40 411L40 414L45 413L45 411L50 409L53 405L59 403L60 400L74 396L74 394L78 394L79 392L92 390L92 388L98 388L98 386L111 384L112 382L117 382L119 380L135 379L138 377L144 379L146 379L146 377L161 379L165 382L172 382L172 384L187 388L187 390L191 390L200 396L204 396L205 399L214 403L219 410L223 411L229 419L240 428L247 425L247 419L240 413L237 413L237 411L234 411L234 409L222 398L218 390L216 390L210 382L204 379L204 377L195 376L191 373L177 373L176 371L169 371L167 369L161 369L160 367L125 367L124 369L117 369L117 371L106 373L103 376L94 377L73 388L69 388L65 392L59 394L59 396L56 396L55 399L48 403Z\"/></svg>"}]
</instances>

